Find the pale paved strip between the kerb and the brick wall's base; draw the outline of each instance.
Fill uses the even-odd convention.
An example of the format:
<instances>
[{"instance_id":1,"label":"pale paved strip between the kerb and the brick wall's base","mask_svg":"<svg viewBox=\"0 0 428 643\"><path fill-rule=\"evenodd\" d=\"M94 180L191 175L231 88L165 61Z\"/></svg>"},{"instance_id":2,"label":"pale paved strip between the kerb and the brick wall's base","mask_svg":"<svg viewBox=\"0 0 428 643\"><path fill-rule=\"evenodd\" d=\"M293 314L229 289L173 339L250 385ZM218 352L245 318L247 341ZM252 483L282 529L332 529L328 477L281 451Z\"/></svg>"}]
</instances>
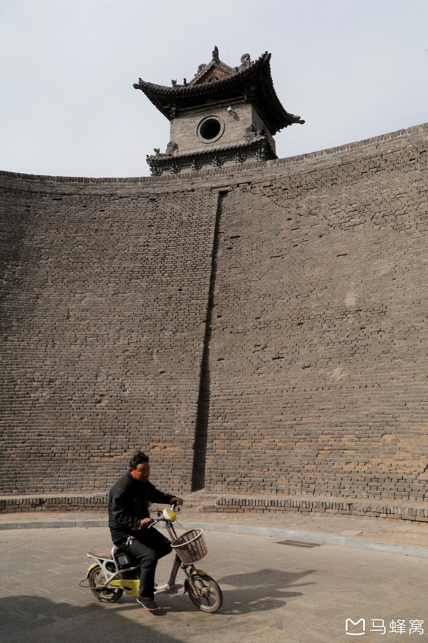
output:
<instances>
[{"instance_id":1,"label":"pale paved strip between the kerb and the brick wall's base","mask_svg":"<svg viewBox=\"0 0 428 643\"><path fill-rule=\"evenodd\" d=\"M0 514L0 523L46 520L107 520L107 518L107 512L103 511L28 511ZM337 514L302 516L297 512L273 515L253 512L205 514L187 507L182 510L180 518L185 522L300 529L306 532L334 534L335 536L355 536L368 540L428 547L428 523L416 523L410 520L357 518L357 516L338 516Z\"/></svg>"}]
</instances>

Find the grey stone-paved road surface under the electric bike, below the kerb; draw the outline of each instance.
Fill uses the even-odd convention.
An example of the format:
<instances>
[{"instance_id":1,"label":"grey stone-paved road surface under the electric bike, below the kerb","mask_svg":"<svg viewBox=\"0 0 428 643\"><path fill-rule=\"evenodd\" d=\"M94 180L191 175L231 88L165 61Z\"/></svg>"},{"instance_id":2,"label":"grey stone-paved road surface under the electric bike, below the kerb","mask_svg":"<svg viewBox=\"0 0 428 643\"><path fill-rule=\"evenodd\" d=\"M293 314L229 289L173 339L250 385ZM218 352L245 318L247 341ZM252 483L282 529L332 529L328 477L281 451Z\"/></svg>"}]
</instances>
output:
<instances>
[{"instance_id":1,"label":"grey stone-paved road surface under the electric bike, below the kerb","mask_svg":"<svg viewBox=\"0 0 428 643\"><path fill-rule=\"evenodd\" d=\"M79 588L86 547L109 545L107 529L0 532L0 640L3 643L364 643L418 640L410 620L428 631L428 560L322 545L280 545L276 538L209 532L203 568L218 580L218 614L198 611L187 595L157 598L158 615L131 597L101 604ZM172 556L160 561L166 581ZM365 619L363 638L345 634L345 620ZM386 635L371 619L383 619ZM390 623L404 621L403 634ZM398 624L399 625L399 624ZM357 626L360 628L362 623ZM381 626L377 620L375 626ZM350 631L361 631L350 625Z\"/></svg>"}]
</instances>

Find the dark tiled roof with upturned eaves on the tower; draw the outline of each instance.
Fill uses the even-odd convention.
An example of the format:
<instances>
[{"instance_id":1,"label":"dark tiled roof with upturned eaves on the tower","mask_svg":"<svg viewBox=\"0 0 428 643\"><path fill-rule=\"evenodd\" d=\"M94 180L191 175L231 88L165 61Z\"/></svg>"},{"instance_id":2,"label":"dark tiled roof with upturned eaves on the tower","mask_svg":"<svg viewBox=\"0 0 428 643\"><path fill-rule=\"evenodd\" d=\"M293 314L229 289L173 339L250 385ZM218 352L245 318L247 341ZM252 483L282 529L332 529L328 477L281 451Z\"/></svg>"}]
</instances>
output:
<instances>
[{"instance_id":1,"label":"dark tiled roof with upturned eaves on the tower","mask_svg":"<svg viewBox=\"0 0 428 643\"><path fill-rule=\"evenodd\" d=\"M271 54L265 51L252 62L250 56L244 54L241 66L232 68L219 60L215 48L212 60L200 65L189 83L178 85L173 81L172 87L166 87L139 78L133 87L141 89L168 120L185 111L244 100L259 110L273 135L288 125L305 121L289 114L280 103L273 87L270 58Z\"/></svg>"}]
</instances>

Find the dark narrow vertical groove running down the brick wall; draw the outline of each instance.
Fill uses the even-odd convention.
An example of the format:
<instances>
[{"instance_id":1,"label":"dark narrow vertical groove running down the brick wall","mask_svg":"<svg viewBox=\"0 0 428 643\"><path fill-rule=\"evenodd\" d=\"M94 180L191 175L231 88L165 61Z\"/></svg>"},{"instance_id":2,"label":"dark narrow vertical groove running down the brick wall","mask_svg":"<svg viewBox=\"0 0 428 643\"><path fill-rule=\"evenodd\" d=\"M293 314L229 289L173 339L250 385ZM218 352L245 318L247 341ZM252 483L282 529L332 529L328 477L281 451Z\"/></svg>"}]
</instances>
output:
<instances>
[{"instance_id":1,"label":"dark narrow vertical groove running down the brick wall","mask_svg":"<svg viewBox=\"0 0 428 643\"><path fill-rule=\"evenodd\" d=\"M210 410L210 340L212 335L212 309L214 307L214 289L217 275L217 253L219 244L219 227L221 209L227 192L220 192L214 226L214 241L212 243L211 275L208 293L207 318L205 320L205 336L201 359L200 383L198 395L198 411L196 413L196 428L194 433L194 453L192 471L192 491L200 491L205 487L205 463L207 460L208 419Z\"/></svg>"}]
</instances>

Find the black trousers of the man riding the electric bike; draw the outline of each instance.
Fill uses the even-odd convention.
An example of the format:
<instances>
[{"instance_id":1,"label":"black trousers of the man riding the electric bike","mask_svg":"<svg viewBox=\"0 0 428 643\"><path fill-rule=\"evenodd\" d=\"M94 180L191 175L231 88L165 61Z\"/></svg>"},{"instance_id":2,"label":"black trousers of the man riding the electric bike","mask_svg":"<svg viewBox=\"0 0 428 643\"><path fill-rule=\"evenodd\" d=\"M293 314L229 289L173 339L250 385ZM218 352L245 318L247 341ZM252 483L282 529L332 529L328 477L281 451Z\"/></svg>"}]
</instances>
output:
<instances>
[{"instance_id":1,"label":"black trousers of the man riding the electric bike","mask_svg":"<svg viewBox=\"0 0 428 643\"><path fill-rule=\"evenodd\" d=\"M127 550L141 564L139 597L153 601L157 561L172 551L171 542L153 527L143 527Z\"/></svg>"}]
</instances>

